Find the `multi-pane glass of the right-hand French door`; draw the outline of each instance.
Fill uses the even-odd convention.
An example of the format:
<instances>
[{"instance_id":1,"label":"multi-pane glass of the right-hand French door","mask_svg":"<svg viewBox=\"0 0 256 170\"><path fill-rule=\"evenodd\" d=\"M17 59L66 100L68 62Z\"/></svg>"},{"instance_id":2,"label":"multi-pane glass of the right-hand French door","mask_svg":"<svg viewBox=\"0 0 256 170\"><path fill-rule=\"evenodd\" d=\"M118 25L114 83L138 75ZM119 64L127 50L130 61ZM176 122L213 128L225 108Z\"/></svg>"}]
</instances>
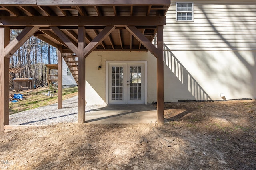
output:
<instances>
[{"instance_id":1,"label":"multi-pane glass of the right-hand French door","mask_svg":"<svg viewBox=\"0 0 256 170\"><path fill-rule=\"evenodd\" d=\"M141 66L130 66L130 100L141 100Z\"/></svg>"}]
</instances>

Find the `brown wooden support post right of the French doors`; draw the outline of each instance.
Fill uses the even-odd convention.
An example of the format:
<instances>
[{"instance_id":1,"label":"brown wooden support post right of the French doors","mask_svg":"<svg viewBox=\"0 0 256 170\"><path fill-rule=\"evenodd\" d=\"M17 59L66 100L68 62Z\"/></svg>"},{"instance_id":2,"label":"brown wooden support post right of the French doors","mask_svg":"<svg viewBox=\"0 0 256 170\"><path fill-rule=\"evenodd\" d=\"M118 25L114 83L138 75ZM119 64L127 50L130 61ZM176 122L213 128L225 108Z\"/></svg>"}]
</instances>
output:
<instances>
[{"instance_id":1,"label":"brown wooden support post right of the French doors","mask_svg":"<svg viewBox=\"0 0 256 170\"><path fill-rule=\"evenodd\" d=\"M157 26L157 122L164 123L164 26Z\"/></svg>"}]
</instances>

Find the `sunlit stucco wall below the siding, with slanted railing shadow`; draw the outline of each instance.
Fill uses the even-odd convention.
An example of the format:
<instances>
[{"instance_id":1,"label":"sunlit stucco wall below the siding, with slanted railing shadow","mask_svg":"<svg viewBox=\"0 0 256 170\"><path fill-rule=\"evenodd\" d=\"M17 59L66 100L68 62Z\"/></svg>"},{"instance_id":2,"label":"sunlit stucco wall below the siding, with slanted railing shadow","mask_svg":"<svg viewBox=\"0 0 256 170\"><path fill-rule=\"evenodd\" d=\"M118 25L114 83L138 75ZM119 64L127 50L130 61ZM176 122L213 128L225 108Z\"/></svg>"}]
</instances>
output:
<instances>
[{"instance_id":1,"label":"sunlit stucco wall below the siding, with slanted railing shadow","mask_svg":"<svg viewBox=\"0 0 256 170\"><path fill-rule=\"evenodd\" d=\"M165 101L256 98L256 52L165 51Z\"/></svg>"}]
</instances>

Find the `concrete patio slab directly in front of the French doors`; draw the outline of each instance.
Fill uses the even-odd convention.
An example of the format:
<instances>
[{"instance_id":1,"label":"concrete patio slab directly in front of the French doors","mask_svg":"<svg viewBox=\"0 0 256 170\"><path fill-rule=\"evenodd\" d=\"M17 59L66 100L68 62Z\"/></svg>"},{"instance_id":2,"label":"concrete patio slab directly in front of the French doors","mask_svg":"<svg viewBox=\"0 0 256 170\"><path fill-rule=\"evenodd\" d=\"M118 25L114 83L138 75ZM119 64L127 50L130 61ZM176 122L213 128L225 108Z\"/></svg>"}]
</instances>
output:
<instances>
[{"instance_id":1,"label":"concrete patio slab directly in front of the French doors","mask_svg":"<svg viewBox=\"0 0 256 170\"><path fill-rule=\"evenodd\" d=\"M86 112L85 119L90 124L150 123L156 121L156 109L144 104L107 105Z\"/></svg>"}]
</instances>

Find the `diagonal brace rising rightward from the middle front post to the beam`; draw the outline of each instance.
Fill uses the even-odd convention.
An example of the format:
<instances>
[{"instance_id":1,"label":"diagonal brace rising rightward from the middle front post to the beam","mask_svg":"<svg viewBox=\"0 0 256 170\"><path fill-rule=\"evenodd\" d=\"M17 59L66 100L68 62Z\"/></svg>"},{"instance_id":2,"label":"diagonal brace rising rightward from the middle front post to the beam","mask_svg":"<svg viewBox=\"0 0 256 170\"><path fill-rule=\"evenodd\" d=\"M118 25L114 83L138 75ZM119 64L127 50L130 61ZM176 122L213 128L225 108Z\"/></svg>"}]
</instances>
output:
<instances>
[{"instance_id":1,"label":"diagonal brace rising rightward from the middle front post to the beam","mask_svg":"<svg viewBox=\"0 0 256 170\"><path fill-rule=\"evenodd\" d=\"M84 57L87 57L112 31L115 26L106 26L85 48ZM79 36L78 36L79 38ZM79 68L79 64L78 64Z\"/></svg>"}]
</instances>

